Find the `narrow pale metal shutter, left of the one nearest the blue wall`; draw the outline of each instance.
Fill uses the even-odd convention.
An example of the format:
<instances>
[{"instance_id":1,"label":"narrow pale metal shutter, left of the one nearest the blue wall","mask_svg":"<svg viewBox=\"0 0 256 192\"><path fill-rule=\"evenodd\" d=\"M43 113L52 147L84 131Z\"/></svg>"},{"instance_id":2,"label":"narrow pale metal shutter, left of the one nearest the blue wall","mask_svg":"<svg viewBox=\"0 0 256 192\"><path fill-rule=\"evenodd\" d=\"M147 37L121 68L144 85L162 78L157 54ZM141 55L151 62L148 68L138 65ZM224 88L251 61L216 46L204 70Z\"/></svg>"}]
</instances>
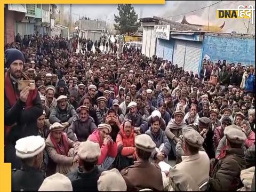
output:
<instances>
[{"instance_id":1,"label":"narrow pale metal shutter, left of the one nearest the blue wall","mask_svg":"<svg viewBox=\"0 0 256 192\"><path fill-rule=\"evenodd\" d=\"M175 40L173 49L173 65L184 68L186 42Z\"/></svg>"}]
</instances>

